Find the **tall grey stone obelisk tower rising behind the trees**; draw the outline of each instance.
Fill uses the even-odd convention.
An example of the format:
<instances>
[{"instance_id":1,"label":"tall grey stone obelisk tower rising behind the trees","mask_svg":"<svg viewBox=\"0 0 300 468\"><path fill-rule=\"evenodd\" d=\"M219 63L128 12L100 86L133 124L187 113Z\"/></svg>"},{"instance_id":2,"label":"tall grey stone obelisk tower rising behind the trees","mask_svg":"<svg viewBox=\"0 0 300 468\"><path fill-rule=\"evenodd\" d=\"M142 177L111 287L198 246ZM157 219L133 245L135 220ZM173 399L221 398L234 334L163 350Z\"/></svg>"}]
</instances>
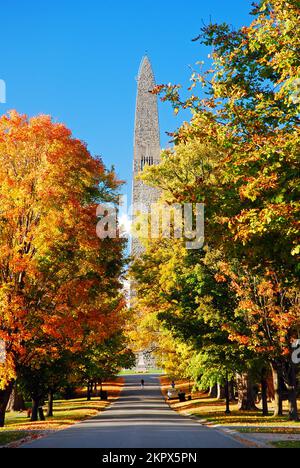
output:
<instances>
[{"instance_id":1,"label":"tall grey stone obelisk tower rising behind the trees","mask_svg":"<svg viewBox=\"0 0 300 468\"><path fill-rule=\"evenodd\" d=\"M148 187L143 182L136 180L136 176L143 171L145 166L152 166L160 162L160 131L158 119L157 96L151 94L155 87L155 78L148 57L144 57L138 75L138 91L135 115L134 132L134 166L133 166L133 214L139 211L143 204L150 208L157 202L159 191ZM131 254L133 257L140 255L143 248L136 237L133 237Z\"/></svg>"}]
</instances>

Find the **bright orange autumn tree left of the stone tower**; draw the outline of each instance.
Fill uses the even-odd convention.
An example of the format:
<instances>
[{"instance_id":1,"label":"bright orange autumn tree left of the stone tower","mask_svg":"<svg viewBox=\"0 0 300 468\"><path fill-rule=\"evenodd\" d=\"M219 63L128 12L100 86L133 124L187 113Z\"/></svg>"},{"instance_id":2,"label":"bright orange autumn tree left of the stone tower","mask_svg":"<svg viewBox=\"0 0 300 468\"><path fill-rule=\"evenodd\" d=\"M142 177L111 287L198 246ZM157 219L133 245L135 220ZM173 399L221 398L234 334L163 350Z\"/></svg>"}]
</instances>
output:
<instances>
[{"instance_id":1,"label":"bright orange autumn tree left of the stone tower","mask_svg":"<svg viewBox=\"0 0 300 468\"><path fill-rule=\"evenodd\" d=\"M96 236L120 182L48 116L0 119L0 426L18 368L115 333L123 241Z\"/></svg>"}]
</instances>

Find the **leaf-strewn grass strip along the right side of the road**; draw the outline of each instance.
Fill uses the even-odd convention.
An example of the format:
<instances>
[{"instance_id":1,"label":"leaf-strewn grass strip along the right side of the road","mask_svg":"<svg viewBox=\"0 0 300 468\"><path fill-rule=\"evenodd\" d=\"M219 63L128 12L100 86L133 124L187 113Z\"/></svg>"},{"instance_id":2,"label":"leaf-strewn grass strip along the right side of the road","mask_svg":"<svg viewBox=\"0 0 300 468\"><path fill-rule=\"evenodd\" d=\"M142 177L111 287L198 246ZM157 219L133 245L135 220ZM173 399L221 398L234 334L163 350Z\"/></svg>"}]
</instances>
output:
<instances>
[{"instance_id":1,"label":"leaf-strewn grass strip along the right side of the road","mask_svg":"<svg viewBox=\"0 0 300 468\"><path fill-rule=\"evenodd\" d=\"M161 377L162 391L166 396L167 390L170 388L170 380L163 376ZM187 382L179 382L177 384L178 389L182 389L187 394L189 394L189 384ZM274 418L272 416L272 405L270 404L270 416L263 417L259 411L239 411L237 403L231 405L231 415L225 415L225 402L219 401L215 398L210 398L205 393L194 393L192 395L193 400L187 401L185 403L179 403L177 400L169 402L170 406L179 413L186 413L191 416L196 416L200 419L206 421L207 424L216 424L222 426L235 426L238 429L238 426L241 426L241 432L260 432L264 430L265 432L272 433L273 428L274 432L277 432L278 428L281 430L281 433L286 433L286 428L290 427L290 432L287 433L300 433L300 423L291 422L288 420L287 415L283 417ZM287 410L287 407L285 407ZM272 426L271 429L266 426ZM292 426L297 426L295 429ZM255 429L254 429L255 428ZM281 429L280 429L281 428ZM288 429L287 429L288 430ZM296 431L296 432L295 432ZM279 432L278 432L279 433Z\"/></svg>"}]
</instances>

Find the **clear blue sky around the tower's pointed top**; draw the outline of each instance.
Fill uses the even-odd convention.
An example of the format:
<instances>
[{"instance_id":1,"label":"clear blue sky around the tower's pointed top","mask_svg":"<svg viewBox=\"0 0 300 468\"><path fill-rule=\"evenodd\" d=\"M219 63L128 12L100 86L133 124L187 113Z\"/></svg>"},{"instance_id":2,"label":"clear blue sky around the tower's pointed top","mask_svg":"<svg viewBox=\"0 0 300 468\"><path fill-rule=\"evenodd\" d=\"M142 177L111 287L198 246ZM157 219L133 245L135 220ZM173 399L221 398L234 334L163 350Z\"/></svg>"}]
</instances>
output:
<instances>
[{"instance_id":1,"label":"clear blue sky around the tower's pointed top","mask_svg":"<svg viewBox=\"0 0 300 468\"><path fill-rule=\"evenodd\" d=\"M158 83L187 83L208 50L191 39L202 20L249 24L251 0L14 0L1 4L0 79L7 104L51 114L115 165L131 192L135 77L148 51ZM160 104L162 146L178 127Z\"/></svg>"}]
</instances>

